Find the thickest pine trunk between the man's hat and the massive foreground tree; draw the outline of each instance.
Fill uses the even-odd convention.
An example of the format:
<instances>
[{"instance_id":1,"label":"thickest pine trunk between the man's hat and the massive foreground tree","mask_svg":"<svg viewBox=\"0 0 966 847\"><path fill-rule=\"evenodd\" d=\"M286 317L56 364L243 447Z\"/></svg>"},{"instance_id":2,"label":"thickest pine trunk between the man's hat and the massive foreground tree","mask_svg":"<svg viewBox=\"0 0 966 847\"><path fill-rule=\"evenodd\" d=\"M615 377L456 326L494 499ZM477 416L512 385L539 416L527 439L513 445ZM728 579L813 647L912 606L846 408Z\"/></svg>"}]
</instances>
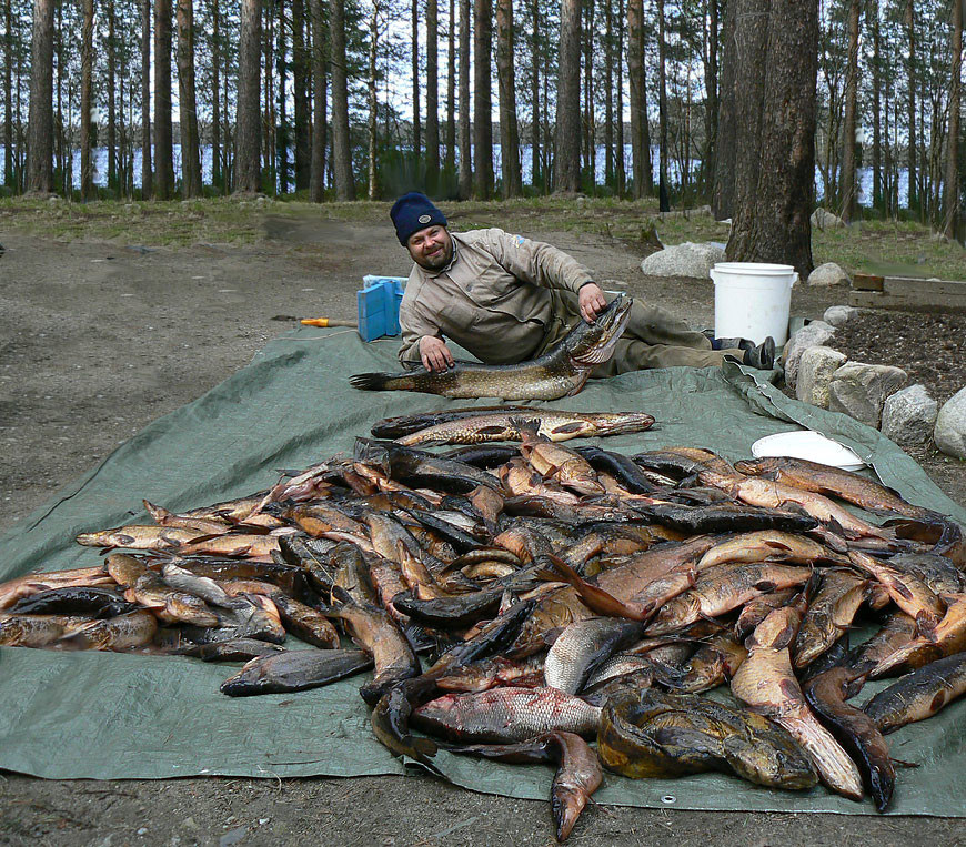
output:
<instances>
[{"instance_id":1,"label":"thickest pine trunk between the man's hat and the massive foreground tree","mask_svg":"<svg viewBox=\"0 0 966 847\"><path fill-rule=\"evenodd\" d=\"M554 191L581 189L581 0L563 0L554 125Z\"/></svg>"}]
</instances>

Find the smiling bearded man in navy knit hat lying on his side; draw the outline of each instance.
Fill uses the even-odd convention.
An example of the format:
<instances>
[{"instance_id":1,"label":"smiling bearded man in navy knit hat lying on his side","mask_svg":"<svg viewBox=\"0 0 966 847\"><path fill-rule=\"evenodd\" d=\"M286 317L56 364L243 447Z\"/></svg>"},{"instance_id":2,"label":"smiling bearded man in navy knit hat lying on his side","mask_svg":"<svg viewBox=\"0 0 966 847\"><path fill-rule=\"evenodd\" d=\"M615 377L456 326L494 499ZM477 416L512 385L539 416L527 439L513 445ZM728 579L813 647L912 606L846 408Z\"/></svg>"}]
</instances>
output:
<instances>
[{"instance_id":1,"label":"smiling bearded man in navy knit hat lying on his side","mask_svg":"<svg viewBox=\"0 0 966 847\"><path fill-rule=\"evenodd\" d=\"M515 364L545 353L583 317L606 307L601 286L566 253L500 229L451 233L446 216L411 192L390 211L400 244L415 264L400 306L406 366L442 371L454 362L451 339L486 364ZM720 365L731 356L753 367L775 364L775 342L708 340L656 305L634 301L612 359L593 376L648 367Z\"/></svg>"}]
</instances>

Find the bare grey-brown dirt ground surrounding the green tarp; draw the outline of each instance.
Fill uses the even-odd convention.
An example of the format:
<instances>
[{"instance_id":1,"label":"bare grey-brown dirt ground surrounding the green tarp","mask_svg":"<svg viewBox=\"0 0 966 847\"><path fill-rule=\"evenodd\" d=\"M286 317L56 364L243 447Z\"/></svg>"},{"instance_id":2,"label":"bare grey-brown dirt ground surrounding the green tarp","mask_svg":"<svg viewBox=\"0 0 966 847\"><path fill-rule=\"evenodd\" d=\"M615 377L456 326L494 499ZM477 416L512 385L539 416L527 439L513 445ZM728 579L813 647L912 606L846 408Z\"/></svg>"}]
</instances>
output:
<instances>
[{"instance_id":1,"label":"bare grey-brown dirt ground surrounding the green tarp","mask_svg":"<svg viewBox=\"0 0 966 847\"><path fill-rule=\"evenodd\" d=\"M496 222L494 218L494 223ZM637 251L604 235L507 230L555 243L605 289L713 325L710 282L645 279ZM298 317L354 317L366 273L405 275L386 223L268 215L251 245L58 242L0 230L0 532L150 421L238 369ZM796 286L821 317L844 289ZM893 364L903 365L896 361ZM917 458L957 502L962 463ZM896 844L963 840L958 820L591 807L572 844ZM479 795L413 775L354 779L46 782L0 774L0 844L551 844L549 804Z\"/></svg>"}]
</instances>

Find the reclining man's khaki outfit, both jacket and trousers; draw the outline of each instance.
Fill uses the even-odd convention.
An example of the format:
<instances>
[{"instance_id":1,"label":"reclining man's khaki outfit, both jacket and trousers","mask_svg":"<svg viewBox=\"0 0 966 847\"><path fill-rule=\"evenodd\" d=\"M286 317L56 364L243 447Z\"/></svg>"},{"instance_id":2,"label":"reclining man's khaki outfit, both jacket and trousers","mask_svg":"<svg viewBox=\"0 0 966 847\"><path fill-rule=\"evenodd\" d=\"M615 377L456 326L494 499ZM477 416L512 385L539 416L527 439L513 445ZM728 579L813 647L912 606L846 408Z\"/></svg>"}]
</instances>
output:
<instances>
[{"instance_id":1,"label":"reclining man's khaki outfit, both jacket and trousers","mask_svg":"<svg viewBox=\"0 0 966 847\"><path fill-rule=\"evenodd\" d=\"M434 335L465 347L481 362L514 364L546 352L581 320L577 292L592 282L566 253L503 230L451 233L450 265L413 265L400 306L403 364L419 364L420 339ZM608 300L611 298L608 296ZM718 365L726 353L660 306L634 301L613 357L593 376L647 367Z\"/></svg>"}]
</instances>

